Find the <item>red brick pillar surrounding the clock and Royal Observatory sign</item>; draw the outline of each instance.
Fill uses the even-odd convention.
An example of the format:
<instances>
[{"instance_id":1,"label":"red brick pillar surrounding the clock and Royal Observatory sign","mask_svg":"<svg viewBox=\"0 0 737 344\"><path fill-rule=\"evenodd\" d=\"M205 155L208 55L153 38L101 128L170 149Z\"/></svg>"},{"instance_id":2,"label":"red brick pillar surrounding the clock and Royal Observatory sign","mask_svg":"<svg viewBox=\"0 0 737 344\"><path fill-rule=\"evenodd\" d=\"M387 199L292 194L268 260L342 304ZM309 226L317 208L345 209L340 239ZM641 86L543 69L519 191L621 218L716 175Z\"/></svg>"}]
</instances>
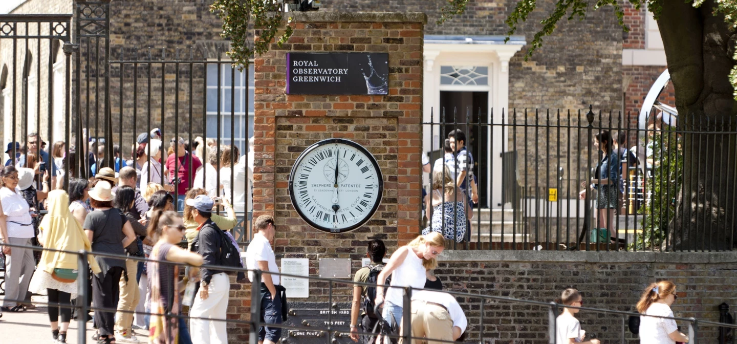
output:
<instances>
[{"instance_id":1,"label":"red brick pillar surrounding the clock and Royal Observatory sign","mask_svg":"<svg viewBox=\"0 0 737 344\"><path fill-rule=\"evenodd\" d=\"M419 234L422 185L422 13L290 13L295 32L255 60L254 218L273 214L274 250L282 257L349 258L354 270L369 238L384 239L391 253ZM287 95L287 52L386 52L389 94L385 96ZM366 147L382 170L383 200L374 216L345 234L318 231L301 220L289 197L288 179L298 155L326 138L347 138ZM250 284L234 284L228 317L248 320ZM333 290L348 301L349 285ZM248 295L241 298L240 295ZM326 284L310 283L310 298L327 301ZM235 297L234 297L235 296ZM235 307L234 307L235 306ZM245 326L229 334L242 340ZM237 332L240 332L237 333ZM286 333L286 331L284 332Z\"/></svg>"}]
</instances>

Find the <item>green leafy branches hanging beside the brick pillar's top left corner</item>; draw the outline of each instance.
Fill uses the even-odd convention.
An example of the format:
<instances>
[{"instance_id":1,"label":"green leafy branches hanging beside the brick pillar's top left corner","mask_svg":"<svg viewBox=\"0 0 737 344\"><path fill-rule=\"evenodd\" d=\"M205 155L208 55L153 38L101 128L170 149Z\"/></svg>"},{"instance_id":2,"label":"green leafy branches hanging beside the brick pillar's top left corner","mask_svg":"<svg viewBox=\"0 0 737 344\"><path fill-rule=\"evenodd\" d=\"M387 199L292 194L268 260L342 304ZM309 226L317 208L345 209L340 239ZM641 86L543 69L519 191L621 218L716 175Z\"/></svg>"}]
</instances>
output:
<instances>
[{"instance_id":1,"label":"green leafy branches hanging beside the brick pillar's top left corner","mask_svg":"<svg viewBox=\"0 0 737 344\"><path fill-rule=\"evenodd\" d=\"M284 32L277 37L284 20L282 1L215 0L210 5L210 12L223 20L223 32L220 36L231 41L231 49L227 54L240 71L248 67L252 56L268 52L272 41L276 40L276 43L282 46L293 33L289 25L292 18L289 18ZM248 26L251 19L254 27L259 29L259 35L253 45L248 40Z\"/></svg>"}]
</instances>

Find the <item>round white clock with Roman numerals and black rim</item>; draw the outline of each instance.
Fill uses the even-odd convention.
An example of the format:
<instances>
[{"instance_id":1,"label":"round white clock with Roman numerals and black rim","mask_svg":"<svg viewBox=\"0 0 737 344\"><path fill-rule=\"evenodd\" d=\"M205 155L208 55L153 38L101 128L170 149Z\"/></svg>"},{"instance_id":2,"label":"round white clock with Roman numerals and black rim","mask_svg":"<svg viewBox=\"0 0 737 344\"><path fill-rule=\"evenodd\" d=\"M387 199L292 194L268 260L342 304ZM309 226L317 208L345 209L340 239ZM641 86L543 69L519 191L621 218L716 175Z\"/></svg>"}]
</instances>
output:
<instances>
[{"instance_id":1,"label":"round white clock with Roman numerals and black rim","mask_svg":"<svg viewBox=\"0 0 737 344\"><path fill-rule=\"evenodd\" d=\"M371 219L384 181L374 156L343 138L330 138L302 152L292 167L289 191L302 219L321 231L343 233Z\"/></svg>"}]
</instances>

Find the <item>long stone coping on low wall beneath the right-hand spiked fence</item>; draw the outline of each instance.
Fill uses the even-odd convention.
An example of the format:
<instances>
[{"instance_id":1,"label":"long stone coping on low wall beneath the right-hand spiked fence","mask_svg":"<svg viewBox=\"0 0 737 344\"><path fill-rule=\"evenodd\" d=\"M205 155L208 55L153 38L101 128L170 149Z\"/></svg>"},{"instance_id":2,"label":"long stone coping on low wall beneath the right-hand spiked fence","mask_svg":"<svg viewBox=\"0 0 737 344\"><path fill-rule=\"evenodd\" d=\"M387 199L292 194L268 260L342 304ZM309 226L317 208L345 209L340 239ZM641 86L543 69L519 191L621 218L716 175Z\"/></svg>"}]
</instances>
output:
<instances>
[{"instance_id":1,"label":"long stone coping on low wall beneath the right-hand spiked fence","mask_svg":"<svg viewBox=\"0 0 737 344\"><path fill-rule=\"evenodd\" d=\"M731 252L607 252L532 250L444 250L438 261L566 261L584 263L716 264L737 262Z\"/></svg>"}]
</instances>

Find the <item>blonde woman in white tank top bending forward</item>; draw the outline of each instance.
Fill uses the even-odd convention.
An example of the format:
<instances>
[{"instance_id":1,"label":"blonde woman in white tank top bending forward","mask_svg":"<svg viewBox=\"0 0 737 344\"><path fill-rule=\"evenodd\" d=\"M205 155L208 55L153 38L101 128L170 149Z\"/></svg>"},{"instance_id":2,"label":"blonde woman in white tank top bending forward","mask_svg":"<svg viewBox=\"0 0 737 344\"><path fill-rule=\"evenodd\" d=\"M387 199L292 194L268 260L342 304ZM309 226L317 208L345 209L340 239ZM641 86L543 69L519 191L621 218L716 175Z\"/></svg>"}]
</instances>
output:
<instances>
[{"instance_id":1,"label":"blonde woman in white tank top bending forward","mask_svg":"<svg viewBox=\"0 0 737 344\"><path fill-rule=\"evenodd\" d=\"M443 253L445 239L442 234L433 232L424 236L418 236L408 245L402 246L391 255L391 259L384 270L377 277L377 281L386 281L391 274L391 287L386 291L384 297L383 284L377 283L376 303L384 303L382 317L390 326L402 320L402 297L404 289L399 287L412 287L422 289L425 287L427 269L435 269L438 265L437 256ZM386 301L386 302L384 302Z\"/></svg>"}]
</instances>

